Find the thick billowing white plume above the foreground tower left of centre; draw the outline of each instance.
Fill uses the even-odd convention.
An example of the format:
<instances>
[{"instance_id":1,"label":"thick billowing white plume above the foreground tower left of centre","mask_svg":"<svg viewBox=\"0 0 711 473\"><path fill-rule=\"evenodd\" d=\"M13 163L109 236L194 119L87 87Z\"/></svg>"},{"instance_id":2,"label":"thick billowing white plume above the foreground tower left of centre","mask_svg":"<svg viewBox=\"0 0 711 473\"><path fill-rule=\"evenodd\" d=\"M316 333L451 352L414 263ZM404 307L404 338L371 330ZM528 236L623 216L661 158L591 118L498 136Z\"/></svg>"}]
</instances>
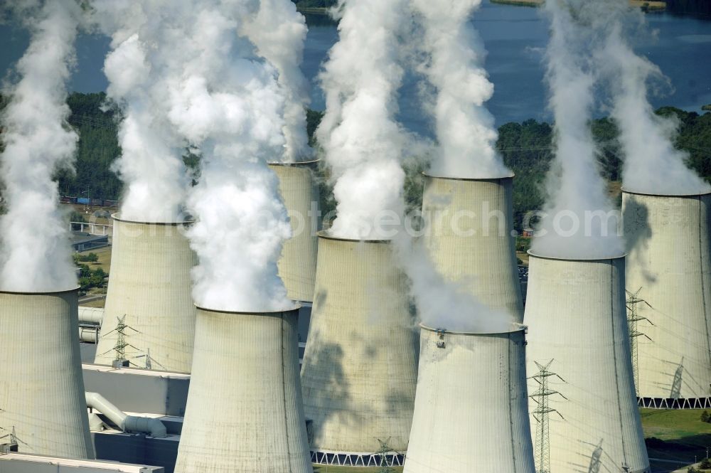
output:
<instances>
[{"instance_id":1,"label":"thick billowing white plume above the foreground tower left of centre","mask_svg":"<svg viewBox=\"0 0 711 473\"><path fill-rule=\"evenodd\" d=\"M173 55L181 71L167 90L171 123L202 158L187 200L197 217L188 230L199 259L193 299L210 309L260 312L293 307L277 275L291 226L267 166L284 147L284 96L274 68L237 36L249 7L195 2L180 23Z\"/></svg>"}]
</instances>

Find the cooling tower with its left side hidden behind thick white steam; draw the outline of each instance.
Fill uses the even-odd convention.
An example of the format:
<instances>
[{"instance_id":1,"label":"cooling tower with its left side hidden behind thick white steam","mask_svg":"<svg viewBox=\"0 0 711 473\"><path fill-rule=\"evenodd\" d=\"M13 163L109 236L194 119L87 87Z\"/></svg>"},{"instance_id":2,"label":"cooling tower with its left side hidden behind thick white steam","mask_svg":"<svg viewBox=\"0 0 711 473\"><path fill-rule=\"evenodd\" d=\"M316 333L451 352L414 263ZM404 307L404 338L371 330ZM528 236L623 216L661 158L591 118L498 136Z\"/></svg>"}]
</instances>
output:
<instances>
[{"instance_id":1,"label":"cooling tower with its left side hidden behind thick white steam","mask_svg":"<svg viewBox=\"0 0 711 473\"><path fill-rule=\"evenodd\" d=\"M284 281L290 299L311 302L314 299L316 280L316 251L319 216L312 214L318 210L319 197L311 176L311 167L316 161L294 164L269 164L279 178L279 192L284 206L289 211L292 223L291 239L284 242L282 257L279 259L279 277Z\"/></svg>"}]
</instances>

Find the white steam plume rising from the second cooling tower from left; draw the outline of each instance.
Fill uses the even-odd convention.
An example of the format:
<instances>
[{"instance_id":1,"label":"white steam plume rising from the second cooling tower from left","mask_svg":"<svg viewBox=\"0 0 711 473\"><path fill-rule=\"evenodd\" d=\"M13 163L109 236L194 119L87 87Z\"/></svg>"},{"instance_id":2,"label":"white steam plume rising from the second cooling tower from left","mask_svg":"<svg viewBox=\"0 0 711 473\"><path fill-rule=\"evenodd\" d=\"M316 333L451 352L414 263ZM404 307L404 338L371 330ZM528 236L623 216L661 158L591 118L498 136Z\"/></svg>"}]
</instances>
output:
<instances>
[{"instance_id":1,"label":"white steam plume rising from the second cooling tower from left","mask_svg":"<svg viewBox=\"0 0 711 473\"><path fill-rule=\"evenodd\" d=\"M188 178L185 144L166 119L166 80L179 67L180 21L190 2L95 0L95 18L112 37L105 60L107 96L123 112L122 155L114 170L124 182L121 216L173 222L179 218Z\"/></svg>"}]
</instances>

